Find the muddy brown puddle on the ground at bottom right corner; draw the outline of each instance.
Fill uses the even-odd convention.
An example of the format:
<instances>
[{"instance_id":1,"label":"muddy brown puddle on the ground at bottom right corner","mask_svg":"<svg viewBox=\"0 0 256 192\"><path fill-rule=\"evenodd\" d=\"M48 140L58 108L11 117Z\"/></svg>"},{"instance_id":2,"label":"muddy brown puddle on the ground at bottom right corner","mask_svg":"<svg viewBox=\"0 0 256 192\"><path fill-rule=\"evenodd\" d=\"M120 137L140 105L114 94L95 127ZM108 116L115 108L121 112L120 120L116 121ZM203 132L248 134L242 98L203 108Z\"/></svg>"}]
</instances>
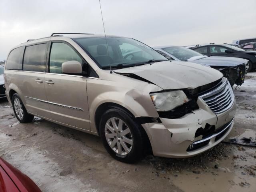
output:
<instances>
[{"instance_id":1,"label":"muddy brown puddle on the ground at bottom right corner","mask_svg":"<svg viewBox=\"0 0 256 192\"><path fill-rule=\"evenodd\" d=\"M246 152L234 150L234 156L218 161L218 168L196 174L189 171L178 173L172 182L189 192L252 192L256 189L256 176L248 170L256 168L255 148L246 147ZM230 154L231 156L231 154ZM255 173L255 170L254 170Z\"/></svg>"}]
</instances>

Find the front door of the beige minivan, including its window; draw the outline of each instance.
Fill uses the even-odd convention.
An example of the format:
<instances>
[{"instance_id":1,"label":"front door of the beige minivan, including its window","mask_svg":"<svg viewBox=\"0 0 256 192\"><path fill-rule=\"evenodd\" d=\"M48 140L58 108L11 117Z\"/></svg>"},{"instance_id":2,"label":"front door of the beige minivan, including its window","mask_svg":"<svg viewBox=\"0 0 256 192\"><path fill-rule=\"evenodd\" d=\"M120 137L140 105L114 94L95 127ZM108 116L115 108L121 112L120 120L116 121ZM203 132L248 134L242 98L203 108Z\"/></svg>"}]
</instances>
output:
<instances>
[{"instance_id":1,"label":"front door of the beige minivan, including its window","mask_svg":"<svg viewBox=\"0 0 256 192\"><path fill-rule=\"evenodd\" d=\"M65 42L51 42L45 90L51 119L76 128L90 130L86 77L62 74L62 63L84 59Z\"/></svg>"}]
</instances>

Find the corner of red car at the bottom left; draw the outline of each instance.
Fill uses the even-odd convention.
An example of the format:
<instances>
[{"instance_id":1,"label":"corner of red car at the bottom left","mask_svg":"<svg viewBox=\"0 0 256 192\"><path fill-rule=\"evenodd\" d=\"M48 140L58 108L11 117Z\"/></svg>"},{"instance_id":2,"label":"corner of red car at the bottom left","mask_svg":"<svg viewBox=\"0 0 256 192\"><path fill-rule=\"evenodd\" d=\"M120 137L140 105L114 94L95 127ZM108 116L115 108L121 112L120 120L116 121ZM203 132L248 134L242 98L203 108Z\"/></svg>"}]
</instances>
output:
<instances>
[{"instance_id":1,"label":"corner of red car at the bottom left","mask_svg":"<svg viewBox=\"0 0 256 192\"><path fill-rule=\"evenodd\" d=\"M25 174L0 158L1 192L41 192L38 186Z\"/></svg>"}]
</instances>

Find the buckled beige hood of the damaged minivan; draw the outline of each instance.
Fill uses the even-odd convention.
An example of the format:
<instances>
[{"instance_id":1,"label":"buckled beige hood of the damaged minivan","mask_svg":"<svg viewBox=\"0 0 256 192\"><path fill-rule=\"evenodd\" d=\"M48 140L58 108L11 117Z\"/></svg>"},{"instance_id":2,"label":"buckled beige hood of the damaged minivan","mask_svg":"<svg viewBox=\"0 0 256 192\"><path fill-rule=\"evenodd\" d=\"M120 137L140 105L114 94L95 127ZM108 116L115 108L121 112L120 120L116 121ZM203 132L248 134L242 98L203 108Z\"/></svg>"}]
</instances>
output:
<instances>
[{"instance_id":1,"label":"buckled beige hood of the damaged minivan","mask_svg":"<svg viewBox=\"0 0 256 192\"><path fill-rule=\"evenodd\" d=\"M162 61L114 72L135 74L162 89L194 89L222 78L222 73L215 69L183 61Z\"/></svg>"}]
</instances>

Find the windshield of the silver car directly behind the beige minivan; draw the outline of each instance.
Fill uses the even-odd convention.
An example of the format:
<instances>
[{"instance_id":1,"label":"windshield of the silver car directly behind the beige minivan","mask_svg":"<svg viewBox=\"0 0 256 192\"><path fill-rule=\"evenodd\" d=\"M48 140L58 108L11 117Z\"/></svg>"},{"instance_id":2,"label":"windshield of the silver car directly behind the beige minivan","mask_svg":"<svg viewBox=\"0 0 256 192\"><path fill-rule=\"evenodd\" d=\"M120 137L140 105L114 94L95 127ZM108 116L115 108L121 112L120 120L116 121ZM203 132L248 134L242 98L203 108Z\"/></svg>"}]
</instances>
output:
<instances>
[{"instance_id":1,"label":"windshield of the silver car directly behind the beige minivan","mask_svg":"<svg viewBox=\"0 0 256 192\"><path fill-rule=\"evenodd\" d=\"M182 47L182 46L172 46L163 48L166 52L172 54L174 57L178 58L179 60L186 61L191 57L195 56L203 56L202 54L193 51L191 49Z\"/></svg>"}]
</instances>

